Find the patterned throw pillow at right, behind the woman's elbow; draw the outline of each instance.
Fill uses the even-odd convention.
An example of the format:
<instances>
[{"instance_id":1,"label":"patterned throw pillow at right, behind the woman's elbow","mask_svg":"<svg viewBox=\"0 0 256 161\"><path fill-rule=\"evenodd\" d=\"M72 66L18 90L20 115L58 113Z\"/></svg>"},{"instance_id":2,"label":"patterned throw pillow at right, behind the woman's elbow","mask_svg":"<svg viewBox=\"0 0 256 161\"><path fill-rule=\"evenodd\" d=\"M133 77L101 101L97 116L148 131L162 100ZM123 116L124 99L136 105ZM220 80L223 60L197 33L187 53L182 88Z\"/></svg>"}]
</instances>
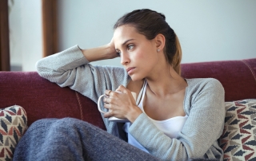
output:
<instances>
[{"instance_id":1,"label":"patterned throw pillow at right, behind the woman's elbow","mask_svg":"<svg viewBox=\"0 0 256 161\"><path fill-rule=\"evenodd\" d=\"M224 160L256 160L256 100L226 102Z\"/></svg>"}]
</instances>

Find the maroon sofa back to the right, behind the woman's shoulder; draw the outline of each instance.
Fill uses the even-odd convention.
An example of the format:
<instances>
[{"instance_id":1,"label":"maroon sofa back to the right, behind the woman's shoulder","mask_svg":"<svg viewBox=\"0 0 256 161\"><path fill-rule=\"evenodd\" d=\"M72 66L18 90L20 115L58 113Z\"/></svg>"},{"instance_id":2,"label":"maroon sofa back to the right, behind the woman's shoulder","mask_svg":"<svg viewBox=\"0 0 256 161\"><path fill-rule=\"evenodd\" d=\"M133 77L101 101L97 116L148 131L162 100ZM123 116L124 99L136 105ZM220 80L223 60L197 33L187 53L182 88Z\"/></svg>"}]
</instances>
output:
<instances>
[{"instance_id":1,"label":"maroon sofa back to the right, behind the woman's shoulder","mask_svg":"<svg viewBox=\"0 0 256 161\"><path fill-rule=\"evenodd\" d=\"M256 98L256 58L183 64L182 77L216 78L225 89L226 101Z\"/></svg>"}]
</instances>

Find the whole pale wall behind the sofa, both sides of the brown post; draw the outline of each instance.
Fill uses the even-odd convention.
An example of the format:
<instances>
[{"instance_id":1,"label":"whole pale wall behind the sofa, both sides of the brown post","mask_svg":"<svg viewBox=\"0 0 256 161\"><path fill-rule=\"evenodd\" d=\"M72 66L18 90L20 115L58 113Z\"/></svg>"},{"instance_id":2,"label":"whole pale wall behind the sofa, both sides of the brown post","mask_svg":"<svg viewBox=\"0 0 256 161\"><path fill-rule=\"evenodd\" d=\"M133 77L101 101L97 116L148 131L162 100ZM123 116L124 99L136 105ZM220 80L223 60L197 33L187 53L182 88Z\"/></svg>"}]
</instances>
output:
<instances>
[{"instance_id":1,"label":"whole pale wall behind the sofa, both sides of the brown post","mask_svg":"<svg viewBox=\"0 0 256 161\"><path fill-rule=\"evenodd\" d=\"M41 0L14 0L11 7L10 63L34 71L42 58ZM182 63L256 57L254 0L59 0L58 50L76 44L81 48L104 45L118 18L142 8L166 15L181 41ZM121 66L118 58L94 64Z\"/></svg>"}]
</instances>

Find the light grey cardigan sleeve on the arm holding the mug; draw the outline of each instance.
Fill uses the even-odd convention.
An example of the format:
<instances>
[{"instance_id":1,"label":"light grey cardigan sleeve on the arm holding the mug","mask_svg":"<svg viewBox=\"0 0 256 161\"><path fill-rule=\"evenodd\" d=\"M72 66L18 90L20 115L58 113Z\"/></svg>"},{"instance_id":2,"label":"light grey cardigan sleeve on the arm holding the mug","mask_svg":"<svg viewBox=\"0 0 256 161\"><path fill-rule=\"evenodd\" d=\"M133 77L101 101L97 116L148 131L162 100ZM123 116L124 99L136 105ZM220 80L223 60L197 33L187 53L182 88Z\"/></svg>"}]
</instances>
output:
<instances>
[{"instance_id":1,"label":"light grey cardigan sleeve on the arm holding the mug","mask_svg":"<svg viewBox=\"0 0 256 161\"><path fill-rule=\"evenodd\" d=\"M186 113L188 118L177 138L171 139L160 132L145 113L138 116L129 132L150 154L160 159L222 159L217 142L225 118L222 84L205 79L202 84L186 89L185 106L190 107Z\"/></svg>"}]
</instances>

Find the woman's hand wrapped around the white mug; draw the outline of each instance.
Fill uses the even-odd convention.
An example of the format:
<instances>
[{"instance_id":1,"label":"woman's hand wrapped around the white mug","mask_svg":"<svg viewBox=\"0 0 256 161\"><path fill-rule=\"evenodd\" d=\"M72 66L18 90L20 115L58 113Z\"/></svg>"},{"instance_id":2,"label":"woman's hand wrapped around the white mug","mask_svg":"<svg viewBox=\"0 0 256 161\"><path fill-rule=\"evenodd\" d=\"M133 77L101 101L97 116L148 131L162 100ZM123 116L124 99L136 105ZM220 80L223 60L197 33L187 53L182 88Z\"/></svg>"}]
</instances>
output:
<instances>
[{"instance_id":1,"label":"woman's hand wrapped around the white mug","mask_svg":"<svg viewBox=\"0 0 256 161\"><path fill-rule=\"evenodd\" d=\"M108 108L109 111L104 114L104 117L115 116L128 119L133 123L142 113L130 90L124 86L120 85L116 91L106 90L105 94L108 97L104 99L104 108Z\"/></svg>"}]
</instances>

